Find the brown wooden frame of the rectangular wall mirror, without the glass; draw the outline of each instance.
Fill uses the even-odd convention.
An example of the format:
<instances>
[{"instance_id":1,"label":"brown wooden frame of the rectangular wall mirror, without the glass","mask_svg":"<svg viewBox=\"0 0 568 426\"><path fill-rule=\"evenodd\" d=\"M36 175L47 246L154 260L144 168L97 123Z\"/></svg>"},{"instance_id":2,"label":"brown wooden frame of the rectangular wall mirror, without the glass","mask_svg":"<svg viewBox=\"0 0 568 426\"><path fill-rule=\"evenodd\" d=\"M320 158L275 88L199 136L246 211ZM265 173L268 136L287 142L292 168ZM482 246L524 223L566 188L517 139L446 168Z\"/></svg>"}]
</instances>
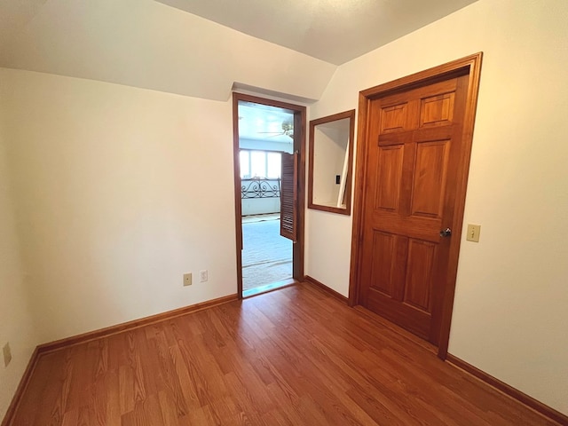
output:
<instances>
[{"instance_id":1,"label":"brown wooden frame of the rectangular wall mirror, without the glass","mask_svg":"<svg viewBox=\"0 0 568 426\"><path fill-rule=\"evenodd\" d=\"M313 159L314 159L314 144L315 144L315 127L319 124L324 124L326 122L336 122L338 120L343 120L349 118L349 149L347 156L349 162L347 164L347 176L346 187L345 187L345 207L333 207L324 206L321 204L314 204L313 202ZM327 117L317 118L310 121L310 134L308 141L308 209L322 210L330 213L338 213L340 215L351 215L351 183L352 183L352 173L353 173L353 144L355 143L355 110L351 109L349 111L343 111L343 113L337 113L333 115L327 115Z\"/></svg>"}]
</instances>

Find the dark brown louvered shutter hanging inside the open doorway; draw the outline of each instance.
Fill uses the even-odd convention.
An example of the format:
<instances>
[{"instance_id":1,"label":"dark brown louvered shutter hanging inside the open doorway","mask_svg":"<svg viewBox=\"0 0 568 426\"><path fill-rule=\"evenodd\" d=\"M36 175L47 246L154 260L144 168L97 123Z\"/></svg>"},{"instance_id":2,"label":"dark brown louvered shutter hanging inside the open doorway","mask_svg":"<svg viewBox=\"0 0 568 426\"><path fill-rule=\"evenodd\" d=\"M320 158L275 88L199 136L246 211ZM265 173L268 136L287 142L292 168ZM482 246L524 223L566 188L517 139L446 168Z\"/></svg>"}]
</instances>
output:
<instances>
[{"instance_id":1,"label":"dark brown louvered shutter hanging inside the open doorway","mask_svg":"<svg viewBox=\"0 0 568 426\"><path fill-rule=\"evenodd\" d=\"M280 235L296 242L297 154L282 153Z\"/></svg>"}]
</instances>

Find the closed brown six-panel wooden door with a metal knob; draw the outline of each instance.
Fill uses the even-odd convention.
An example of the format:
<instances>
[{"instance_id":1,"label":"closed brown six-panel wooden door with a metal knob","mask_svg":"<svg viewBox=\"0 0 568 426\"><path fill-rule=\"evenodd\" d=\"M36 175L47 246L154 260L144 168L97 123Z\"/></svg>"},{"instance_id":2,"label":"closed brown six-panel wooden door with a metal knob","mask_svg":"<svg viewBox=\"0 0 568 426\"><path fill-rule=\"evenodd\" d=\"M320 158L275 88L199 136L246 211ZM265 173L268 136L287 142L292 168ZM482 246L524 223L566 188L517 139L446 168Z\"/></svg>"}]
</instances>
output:
<instances>
[{"instance_id":1,"label":"closed brown six-panel wooden door with a metal knob","mask_svg":"<svg viewBox=\"0 0 568 426\"><path fill-rule=\"evenodd\" d=\"M438 344L469 75L370 100L359 303ZM415 86L414 86L415 87ZM457 259L456 259L457 260Z\"/></svg>"}]
</instances>

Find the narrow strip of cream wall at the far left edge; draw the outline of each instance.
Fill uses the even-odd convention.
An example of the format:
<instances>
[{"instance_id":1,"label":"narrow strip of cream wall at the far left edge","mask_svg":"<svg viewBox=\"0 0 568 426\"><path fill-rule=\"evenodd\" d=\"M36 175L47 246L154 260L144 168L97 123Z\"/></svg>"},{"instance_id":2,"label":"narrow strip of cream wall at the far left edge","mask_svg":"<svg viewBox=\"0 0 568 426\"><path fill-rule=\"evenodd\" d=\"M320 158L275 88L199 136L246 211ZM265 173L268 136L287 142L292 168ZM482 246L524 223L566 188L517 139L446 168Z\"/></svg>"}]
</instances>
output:
<instances>
[{"instance_id":1,"label":"narrow strip of cream wall at the far left edge","mask_svg":"<svg viewBox=\"0 0 568 426\"><path fill-rule=\"evenodd\" d=\"M4 88L4 83L0 78L0 88ZM12 348L12 362L8 367L4 367L4 359L0 355L0 419L4 418L38 343L28 306L25 272L15 228L10 174L4 150L5 109L4 99L0 97L0 348L6 343L10 343Z\"/></svg>"}]
</instances>

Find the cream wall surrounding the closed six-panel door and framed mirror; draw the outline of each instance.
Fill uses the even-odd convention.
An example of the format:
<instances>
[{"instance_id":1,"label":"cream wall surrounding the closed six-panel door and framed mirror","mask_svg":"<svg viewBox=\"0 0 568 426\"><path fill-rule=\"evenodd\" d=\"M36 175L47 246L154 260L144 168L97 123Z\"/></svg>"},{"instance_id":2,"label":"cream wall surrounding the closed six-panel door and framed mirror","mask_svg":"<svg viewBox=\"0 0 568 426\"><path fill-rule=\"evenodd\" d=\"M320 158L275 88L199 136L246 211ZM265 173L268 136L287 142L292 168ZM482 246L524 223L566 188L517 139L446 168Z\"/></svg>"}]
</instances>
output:
<instances>
[{"instance_id":1,"label":"cream wall surrounding the closed six-panel door and framed mirror","mask_svg":"<svg viewBox=\"0 0 568 426\"><path fill-rule=\"evenodd\" d=\"M312 117L484 51L449 351L568 414L568 2L480 0L355 59ZM306 273L348 294L351 217L307 212ZM334 233L329 230L334 229Z\"/></svg>"}]
</instances>

